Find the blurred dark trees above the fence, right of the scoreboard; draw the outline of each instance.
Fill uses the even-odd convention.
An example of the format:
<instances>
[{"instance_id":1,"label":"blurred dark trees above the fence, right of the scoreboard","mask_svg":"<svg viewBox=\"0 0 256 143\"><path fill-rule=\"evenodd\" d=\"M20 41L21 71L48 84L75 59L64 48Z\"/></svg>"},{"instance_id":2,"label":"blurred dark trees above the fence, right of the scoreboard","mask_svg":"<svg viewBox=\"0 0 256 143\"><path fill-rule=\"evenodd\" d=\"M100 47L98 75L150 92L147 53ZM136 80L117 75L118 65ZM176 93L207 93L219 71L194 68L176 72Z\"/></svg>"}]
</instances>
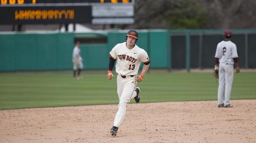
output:
<instances>
[{"instance_id":1,"label":"blurred dark trees above the fence, right of the scoreboard","mask_svg":"<svg viewBox=\"0 0 256 143\"><path fill-rule=\"evenodd\" d=\"M135 0L135 23L122 29L256 27L256 0Z\"/></svg>"}]
</instances>

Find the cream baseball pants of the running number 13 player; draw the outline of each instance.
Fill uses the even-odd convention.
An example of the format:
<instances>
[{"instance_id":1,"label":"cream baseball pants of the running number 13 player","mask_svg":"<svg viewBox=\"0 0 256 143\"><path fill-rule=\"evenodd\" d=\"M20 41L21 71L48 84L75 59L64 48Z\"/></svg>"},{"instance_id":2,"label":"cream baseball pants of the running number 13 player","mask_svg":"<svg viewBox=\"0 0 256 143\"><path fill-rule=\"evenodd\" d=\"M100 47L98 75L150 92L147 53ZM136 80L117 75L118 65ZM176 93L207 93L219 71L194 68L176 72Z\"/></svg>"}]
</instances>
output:
<instances>
[{"instance_id":1,"label":"cream baseball pants of the running number 13 player","mask_svg":"<svg viewBox=\"0 0 256 143\"><path fill-rule=\"evenodd\" d=\"M114 126L119 127L124 118L127 103L133 99L137 92L135 92L136 80L135 76L126 76L122 78L120 75L117 76L117 94L119 97L118 111L115 116Z\"/></svg>"}]
</instances>

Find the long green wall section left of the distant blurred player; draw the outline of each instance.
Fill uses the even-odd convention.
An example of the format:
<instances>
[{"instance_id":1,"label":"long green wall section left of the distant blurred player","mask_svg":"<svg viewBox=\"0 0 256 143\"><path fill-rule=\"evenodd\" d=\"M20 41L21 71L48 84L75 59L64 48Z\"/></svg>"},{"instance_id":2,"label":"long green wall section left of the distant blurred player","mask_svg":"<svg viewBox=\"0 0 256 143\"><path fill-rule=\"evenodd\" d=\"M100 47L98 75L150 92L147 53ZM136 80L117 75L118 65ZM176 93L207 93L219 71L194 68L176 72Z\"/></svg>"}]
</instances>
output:
<instances>
[{"instance_id":1,"label":"long green wall section left of the distant blurred player","mask_svg":"<svg viewBox=\"0 0 256 143\"><path fill-rule=\"evenodd\" d=\"M0 34L0 71L69 69L72 33Z\"/></svg>"}]
</instances>

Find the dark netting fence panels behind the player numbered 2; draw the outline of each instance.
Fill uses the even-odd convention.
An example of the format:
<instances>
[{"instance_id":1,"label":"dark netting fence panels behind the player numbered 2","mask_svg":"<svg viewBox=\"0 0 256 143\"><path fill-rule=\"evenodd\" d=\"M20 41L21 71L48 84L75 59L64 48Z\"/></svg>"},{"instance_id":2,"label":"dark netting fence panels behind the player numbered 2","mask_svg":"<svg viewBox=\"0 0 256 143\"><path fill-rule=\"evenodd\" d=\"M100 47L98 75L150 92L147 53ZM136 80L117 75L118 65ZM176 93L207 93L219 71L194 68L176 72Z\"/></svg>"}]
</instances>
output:
<instances>
[{"instance_id":1,"label":"dark netting fence panels behind the player numbered 2","mask_svg":"<svg viewBox=\"0 0 256 143\"><path fill-rule=\"evenodd\" d=\"M256 34L248 34L248 68L256 68ZM223 35L190 35L190 68L213 68L217 44L224 40ZM233 34L231 41L236 44L238 61L246 68L245 34ZM186 69L186 36L171 36L171 68Z\"/></svg>"}]
</instances>

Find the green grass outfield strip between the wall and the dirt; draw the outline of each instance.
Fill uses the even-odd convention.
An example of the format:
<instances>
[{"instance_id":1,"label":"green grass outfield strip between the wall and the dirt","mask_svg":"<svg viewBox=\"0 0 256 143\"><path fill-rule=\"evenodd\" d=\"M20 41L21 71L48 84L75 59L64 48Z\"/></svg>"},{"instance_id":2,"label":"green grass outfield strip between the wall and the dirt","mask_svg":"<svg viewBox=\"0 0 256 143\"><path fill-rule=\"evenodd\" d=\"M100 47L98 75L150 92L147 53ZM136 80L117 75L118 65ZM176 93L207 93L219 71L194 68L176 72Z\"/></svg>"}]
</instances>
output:
<instances>
[{"instance_id":1,"label":"green grass outfield strip between the wall and the dirt","mask_svg":"<svg viewBox=\"0 0 256 143\"><path fill-rule=\"evenodd\" d=\"M141 102L217 100L218 81L212 73L147 73L141 88ZM256 99L256 73L234 74L234 99ZM116 74L83 72L83 79L71 72L0 73L0 110L93 104L117 104ZM134 103L134 100L132 100Z\"/></svg>"}]
</instances>

